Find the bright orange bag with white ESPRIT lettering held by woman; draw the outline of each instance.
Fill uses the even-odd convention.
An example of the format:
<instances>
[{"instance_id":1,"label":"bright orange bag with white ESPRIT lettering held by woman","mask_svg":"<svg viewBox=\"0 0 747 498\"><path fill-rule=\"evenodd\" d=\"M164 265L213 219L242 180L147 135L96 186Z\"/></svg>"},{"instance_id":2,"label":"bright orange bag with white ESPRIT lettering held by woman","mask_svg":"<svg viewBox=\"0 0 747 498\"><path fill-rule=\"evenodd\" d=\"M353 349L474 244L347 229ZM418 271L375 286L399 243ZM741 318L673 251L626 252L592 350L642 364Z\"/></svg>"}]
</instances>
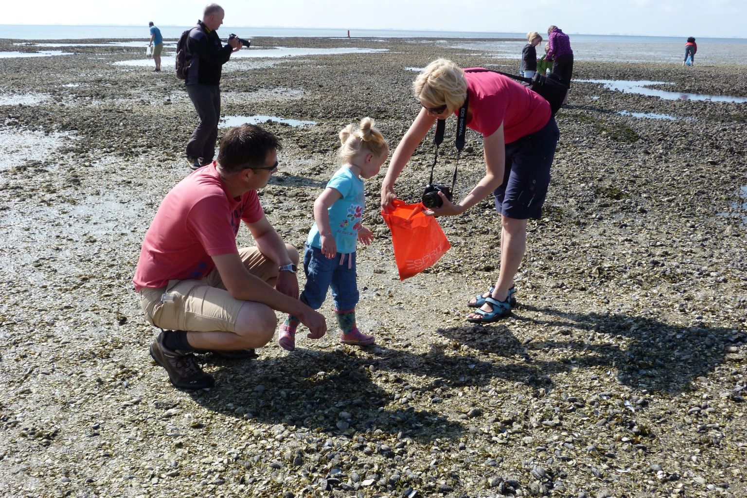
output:
<instances>
[{"instance_id":1,"label":"bright orange bag with white ESPRIT lettering held by woman","mask_svg":"<svg viewBox=\"0 0 747 498\"><path fill-rule=\"evenodd\" d=\"M418 275L451 248L436 218L423 214L423 205L394 199L394 208L381 212L391 230L394 261L400 280Z\"/></svg>"}]
</instances>

